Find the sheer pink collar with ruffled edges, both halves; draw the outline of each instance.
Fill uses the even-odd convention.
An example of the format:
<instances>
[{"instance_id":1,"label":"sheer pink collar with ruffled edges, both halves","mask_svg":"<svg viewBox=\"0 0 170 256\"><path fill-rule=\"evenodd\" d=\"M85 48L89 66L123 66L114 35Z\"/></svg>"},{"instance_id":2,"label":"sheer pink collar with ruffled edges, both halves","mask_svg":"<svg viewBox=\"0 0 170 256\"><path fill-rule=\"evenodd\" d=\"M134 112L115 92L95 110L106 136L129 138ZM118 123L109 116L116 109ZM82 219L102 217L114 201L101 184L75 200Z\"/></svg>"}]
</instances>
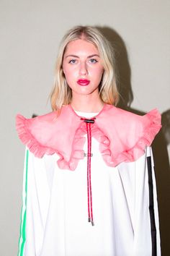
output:
<instances>
[{"instance_id":1,"label":"sheer pink collar with ruffled edges, both halves","mask_svg":"<svg viewBox=\"0 0 170 256\"><path fill-rule=\"evenodd\" d=\"M156 109L138 116L104 104L91 123L91 137L99 142L105 163L114 167L140 158L159 129L161 116ZM58 117L55 111L33 119L18 114L17 131L24 145L38 158L57 153L60 168L75 170L84 158L86 122L70 105L63 106Z\"/></svg>"}]
</instances>

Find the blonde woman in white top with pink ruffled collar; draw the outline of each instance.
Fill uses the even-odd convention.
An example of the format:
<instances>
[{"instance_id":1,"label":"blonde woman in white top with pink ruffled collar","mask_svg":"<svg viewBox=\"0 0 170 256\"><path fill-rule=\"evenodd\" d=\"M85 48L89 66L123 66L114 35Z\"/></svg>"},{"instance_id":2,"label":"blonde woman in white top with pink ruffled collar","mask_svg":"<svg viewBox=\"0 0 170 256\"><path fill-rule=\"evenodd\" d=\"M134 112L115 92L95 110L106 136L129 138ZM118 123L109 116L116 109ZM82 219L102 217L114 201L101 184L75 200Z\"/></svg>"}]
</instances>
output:
<instances>
[{"instance_id":1,"label":"blonde woman in white top with pink ruffled collar","mask_svg":"<svg viewBox=\"0 0 170 256\"><path fill-rule=\"evenodd\" d=\"M160 115L114 106L114 67L106 38L74 27L58 54L53 112L17 116L27 145L19 255L161 254L149 148Z\"/></svg>"}]
</instances>

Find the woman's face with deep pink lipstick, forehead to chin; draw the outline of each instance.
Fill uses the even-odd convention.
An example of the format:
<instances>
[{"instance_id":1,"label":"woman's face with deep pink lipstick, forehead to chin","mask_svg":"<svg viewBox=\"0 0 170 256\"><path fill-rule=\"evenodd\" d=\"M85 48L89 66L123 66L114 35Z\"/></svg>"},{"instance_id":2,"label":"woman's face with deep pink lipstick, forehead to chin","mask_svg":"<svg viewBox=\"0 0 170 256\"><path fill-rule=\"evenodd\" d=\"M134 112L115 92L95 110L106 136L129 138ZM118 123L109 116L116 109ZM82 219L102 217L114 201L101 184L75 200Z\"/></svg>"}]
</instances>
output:
<instances>
[{"instance_id":1,"label":"woman's face with deep pink lipstick, forehead to chin","mask_svg":"<svg viewBox=\"0 0 170 256\"><path fill-rule=\"evenodd\" d=\"M73 97L99 94L104 69L97 47L81 39L68 43L63 56L63 72Z\"/></svg>"}]
</instances>

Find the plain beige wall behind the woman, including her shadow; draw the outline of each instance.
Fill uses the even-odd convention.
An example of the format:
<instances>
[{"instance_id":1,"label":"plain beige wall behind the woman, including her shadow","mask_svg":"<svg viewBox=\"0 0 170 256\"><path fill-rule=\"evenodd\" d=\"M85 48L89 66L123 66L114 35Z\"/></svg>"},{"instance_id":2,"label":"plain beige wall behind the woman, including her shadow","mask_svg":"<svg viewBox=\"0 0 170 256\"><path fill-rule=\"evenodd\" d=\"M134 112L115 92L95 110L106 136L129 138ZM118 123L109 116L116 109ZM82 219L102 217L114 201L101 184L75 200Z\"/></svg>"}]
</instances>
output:
<instances>
[{"instance_id":1,"label":"plain beige wall behind the woman, including her shadow","mask_svg":"<svg viewBox=\"0 0 170 256\"><path fill-rule=\"evenodd\" d=\"M58 43L73 25L96 25L115 43L124 106L133 96L132 111L161 111L164 129L153 151L162 250L170 252L169 17L169 0L0 0L0 255L17 255L19 237L24 146L14 117L50 111L47 98Z\"/></svg>"}]
</instances>

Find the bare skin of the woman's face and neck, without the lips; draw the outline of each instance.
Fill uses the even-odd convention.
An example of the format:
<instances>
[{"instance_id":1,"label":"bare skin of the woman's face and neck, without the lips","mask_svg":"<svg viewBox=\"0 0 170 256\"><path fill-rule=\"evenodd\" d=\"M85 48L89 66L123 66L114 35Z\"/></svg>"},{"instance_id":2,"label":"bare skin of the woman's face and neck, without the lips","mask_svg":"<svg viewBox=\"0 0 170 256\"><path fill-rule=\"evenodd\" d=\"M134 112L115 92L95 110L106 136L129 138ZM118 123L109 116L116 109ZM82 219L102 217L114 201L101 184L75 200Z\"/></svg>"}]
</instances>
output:
<instances>
[{"instance_id":1,"label":"bare skin of the woman's face and neck, without the lips","mask_svg":"<svg viewBox=\"0 0 170 256\"><path fill-rule=\"evenodd\" d=\"M63 56L63 72L72 90L71 106L76 111L100 111L103 102L99 97L99 84L104 69L97 47L82 39L68 43ZM79 80L89 80L89 84L79 85Z\"/></svg>"}]
</instances>

